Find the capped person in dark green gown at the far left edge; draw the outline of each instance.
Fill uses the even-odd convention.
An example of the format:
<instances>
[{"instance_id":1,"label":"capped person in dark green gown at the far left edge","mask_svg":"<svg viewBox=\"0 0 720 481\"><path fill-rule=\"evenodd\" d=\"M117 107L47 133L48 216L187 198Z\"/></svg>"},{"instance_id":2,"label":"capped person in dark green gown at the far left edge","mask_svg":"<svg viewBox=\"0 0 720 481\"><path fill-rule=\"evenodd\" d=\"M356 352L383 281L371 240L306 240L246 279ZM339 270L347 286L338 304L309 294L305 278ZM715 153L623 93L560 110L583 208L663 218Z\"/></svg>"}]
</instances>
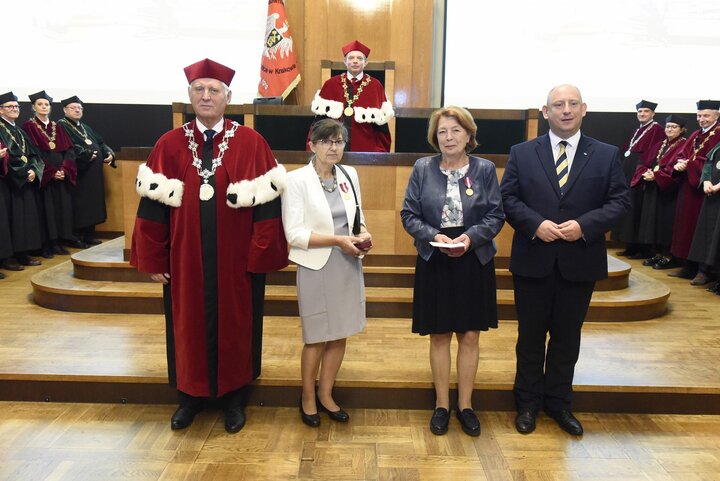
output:
<instances>
[{"instance_id":1,"label":"capped person in dark green gown at the far left edge","mask_svg":"<svg viewBox=\"0 0 720 481\"><path fill-rule=\"evenodd\" d=\"M3 261L3 268L22 270L38 266L40 261L28 255L41 245L37 189L43 174L43 162L32 141L15 121L20 105L12 92L0 95L0 142L7 147L10 231L14 256Z\"/></svg>"}]
</instances>

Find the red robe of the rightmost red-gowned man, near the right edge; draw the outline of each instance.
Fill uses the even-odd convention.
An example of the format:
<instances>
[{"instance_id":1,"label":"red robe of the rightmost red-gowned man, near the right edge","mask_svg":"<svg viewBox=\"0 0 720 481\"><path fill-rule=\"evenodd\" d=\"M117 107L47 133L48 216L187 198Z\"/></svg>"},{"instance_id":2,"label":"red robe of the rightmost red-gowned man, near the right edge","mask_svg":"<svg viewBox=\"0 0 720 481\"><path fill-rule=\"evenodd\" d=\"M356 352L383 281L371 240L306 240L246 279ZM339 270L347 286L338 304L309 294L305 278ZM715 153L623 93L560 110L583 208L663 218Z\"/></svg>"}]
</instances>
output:
<instances>
[{"instance_id":1,"label":"red robe of the rightmost red-gowned man, near the right edge","mask_svg":"<svg viewBox=\"0 0 720 481\"><path fill-rule=\"evenodd\" d=\"M703 141L707 141L703 144ZM690 159L684 173L675 172L680 178L680 192L678 192L677 208L675 210L675 232L670 251L675 257L687 259L690 245L695 234L698 215L702 207L703 194L700 188L700 176L707 160L707 154L720 142L720 125L715 124L710 130L702 133L696 130L685 142L685 146L678 152L674 162L679 159ZM702 148L694 153L694 149Z\"/></svg>"}]
</instances>

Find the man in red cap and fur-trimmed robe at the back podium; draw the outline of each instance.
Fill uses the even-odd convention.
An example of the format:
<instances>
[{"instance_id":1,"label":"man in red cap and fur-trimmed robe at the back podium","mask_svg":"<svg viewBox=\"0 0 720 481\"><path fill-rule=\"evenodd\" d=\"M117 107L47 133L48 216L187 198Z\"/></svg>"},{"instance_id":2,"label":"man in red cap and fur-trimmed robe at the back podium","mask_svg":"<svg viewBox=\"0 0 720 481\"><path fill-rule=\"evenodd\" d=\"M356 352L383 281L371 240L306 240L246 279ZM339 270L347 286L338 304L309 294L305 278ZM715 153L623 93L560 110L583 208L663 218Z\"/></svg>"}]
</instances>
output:
<instances>
[{"instance_id":1,"label":"man in red cap and fur-trimmed robe at the back podium","mask_svg":"<svg viewBox=\"0 0 720 481\"><path fill-rule=\"evenodd\" d=\"M353 40L342 48L347 72L322 86L312 101L316 121L330 117L345 124L350 142L345 150L389 152L388 120L395 115L380 81L364 73L370 49Z\"/></svg>"}]
</instances>

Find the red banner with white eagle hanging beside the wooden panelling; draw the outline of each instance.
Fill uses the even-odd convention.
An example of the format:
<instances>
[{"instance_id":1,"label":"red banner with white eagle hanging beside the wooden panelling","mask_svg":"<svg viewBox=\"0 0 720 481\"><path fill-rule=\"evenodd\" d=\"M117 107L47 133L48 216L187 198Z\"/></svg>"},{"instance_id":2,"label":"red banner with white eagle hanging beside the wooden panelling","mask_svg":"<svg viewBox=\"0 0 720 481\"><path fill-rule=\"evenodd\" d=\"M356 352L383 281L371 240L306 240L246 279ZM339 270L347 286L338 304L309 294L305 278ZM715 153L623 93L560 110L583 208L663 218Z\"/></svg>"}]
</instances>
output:
<instances>
[{"instance_id":1,"label":"red banner with white eagle hanging beside the wooden panelling","mask_svg":"<svg viewBox=\"0 0 720 481\"><path fill-rule=\"evenodd\" d=\"M284 99L299 82L300 68L285 14L285 2L269 0L258 96Z\"/></svg>"}]
</instances>

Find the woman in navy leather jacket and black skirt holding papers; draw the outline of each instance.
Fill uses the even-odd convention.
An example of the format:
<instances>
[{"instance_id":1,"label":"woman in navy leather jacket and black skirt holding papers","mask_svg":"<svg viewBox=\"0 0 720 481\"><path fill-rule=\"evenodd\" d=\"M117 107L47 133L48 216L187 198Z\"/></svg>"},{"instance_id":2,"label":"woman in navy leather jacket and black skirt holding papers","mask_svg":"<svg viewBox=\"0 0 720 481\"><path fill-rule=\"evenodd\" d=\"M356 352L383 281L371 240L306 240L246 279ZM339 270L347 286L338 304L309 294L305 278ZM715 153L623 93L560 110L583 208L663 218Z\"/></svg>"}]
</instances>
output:
<instances>
[{"instance_id":1,"label":"woman in navy leather jacket and black skirt holding papers","mask_svg":"<svg viewBox=\"0 0 720 481\"><path fill-rule=\"evenodd\" d=\"M466 434L480 434L472 408L479 336L498 325L493 239L505 215L495 165L468 155L477 146L476 132L463 108L432 114L427 137L440 155L415 163L400 212L418 251L412 330L430 335L434 434L447 432L450 420L453 333L458 342L456 415Z\"/></svg>"}]
</instances>

